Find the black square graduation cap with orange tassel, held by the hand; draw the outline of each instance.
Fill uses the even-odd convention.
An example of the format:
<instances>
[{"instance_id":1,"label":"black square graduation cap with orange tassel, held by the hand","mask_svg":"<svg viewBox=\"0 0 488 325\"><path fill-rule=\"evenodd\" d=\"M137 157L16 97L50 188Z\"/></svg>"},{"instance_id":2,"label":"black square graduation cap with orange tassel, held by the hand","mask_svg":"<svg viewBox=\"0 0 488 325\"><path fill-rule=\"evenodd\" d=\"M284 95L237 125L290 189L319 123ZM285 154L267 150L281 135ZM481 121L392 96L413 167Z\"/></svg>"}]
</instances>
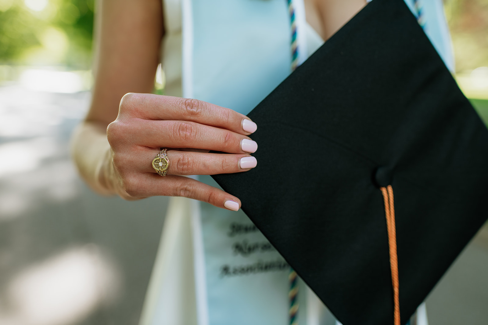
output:
<instances>
[{"instance_id":1,"label":"black square graduation cap with orange tassel, held by the hand","mask_svg":"<svg viewBox=\"0 0 488 325\"><path fill-rule=\"evenodd\" d=\"M369 3L249 117L257 167L215 180L344 325L393 324L397 256L405 324L487 219L488 132L404 1Z\"/></svg>"}]
</instances>

